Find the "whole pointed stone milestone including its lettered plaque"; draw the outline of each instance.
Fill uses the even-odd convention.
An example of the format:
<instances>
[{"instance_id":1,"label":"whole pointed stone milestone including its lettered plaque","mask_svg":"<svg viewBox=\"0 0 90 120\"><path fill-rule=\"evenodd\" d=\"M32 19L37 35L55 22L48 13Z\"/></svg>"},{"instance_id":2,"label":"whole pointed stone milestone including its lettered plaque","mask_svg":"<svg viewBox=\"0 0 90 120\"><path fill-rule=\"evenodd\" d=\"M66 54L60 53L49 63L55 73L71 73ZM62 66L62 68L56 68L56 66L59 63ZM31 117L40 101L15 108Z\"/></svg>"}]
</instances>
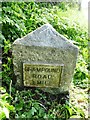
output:
<instances>
[{"instance_id":1,"label":"whole pointed stone milestone including its lettered plaque","mask_svg":"<svg viewBox=\"0 0 90 120\"><path fill-rule=\"evenodd\" d=\"M15 40L12 47L16 86L52 94L69 91L78 48L50 24Z\"/></svg>"}]
</instances>

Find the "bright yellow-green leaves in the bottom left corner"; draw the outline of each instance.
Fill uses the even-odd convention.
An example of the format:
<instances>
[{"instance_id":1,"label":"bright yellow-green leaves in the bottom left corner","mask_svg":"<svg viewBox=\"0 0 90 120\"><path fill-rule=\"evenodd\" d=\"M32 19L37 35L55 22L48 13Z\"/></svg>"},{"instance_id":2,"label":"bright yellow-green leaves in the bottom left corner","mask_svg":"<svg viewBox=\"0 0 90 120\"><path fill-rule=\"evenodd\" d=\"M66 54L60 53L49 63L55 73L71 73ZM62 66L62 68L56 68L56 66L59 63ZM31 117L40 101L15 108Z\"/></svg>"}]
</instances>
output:
<instances>
[{"instance_id":1,"label":"bright yellow-green leaves in the bottom left corner","mask_svg":"<svg viewBox=\"0 0 90 120\"><path fill-rule=\"evenodd\" d=\"M0 87L0 119L10 118L10 113L15 112L13 105L10 105L11 96L6 93L3 87Z\"/></svg>"}]
</instances>

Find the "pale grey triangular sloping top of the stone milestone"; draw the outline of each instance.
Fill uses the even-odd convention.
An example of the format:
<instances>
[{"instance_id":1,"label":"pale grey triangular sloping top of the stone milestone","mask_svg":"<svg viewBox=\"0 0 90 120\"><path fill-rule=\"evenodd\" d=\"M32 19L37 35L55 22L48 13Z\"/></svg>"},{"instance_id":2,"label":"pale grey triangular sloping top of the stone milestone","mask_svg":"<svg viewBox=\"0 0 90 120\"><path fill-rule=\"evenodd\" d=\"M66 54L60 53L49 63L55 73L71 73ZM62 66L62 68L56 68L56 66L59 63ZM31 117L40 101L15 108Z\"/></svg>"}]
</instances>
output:
<instances>
[{"instance_id":1,"label":"pale grey triangular sloping top of the stone milestone","mask_svg":"<svg viewBox=\"0 0 90 120\"><path fill-rule=\"evenodd\" d=\"M44 24L33 32L17 39L13 44L21 44L24 46L43 46L60 48L67 46L77 49L67 38L59 34L49 23Z\"/></svg>"}]
</instances>

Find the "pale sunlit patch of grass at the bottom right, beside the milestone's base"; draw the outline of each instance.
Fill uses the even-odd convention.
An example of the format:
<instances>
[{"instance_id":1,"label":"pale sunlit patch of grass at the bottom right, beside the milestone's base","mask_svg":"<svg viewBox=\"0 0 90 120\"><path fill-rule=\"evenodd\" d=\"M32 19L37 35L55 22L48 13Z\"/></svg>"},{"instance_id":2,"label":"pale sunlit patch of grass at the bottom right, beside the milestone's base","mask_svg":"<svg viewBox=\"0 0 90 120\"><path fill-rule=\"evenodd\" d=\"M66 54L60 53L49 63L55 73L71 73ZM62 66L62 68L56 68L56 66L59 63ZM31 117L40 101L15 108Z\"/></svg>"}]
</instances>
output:
<instances>
[{"instance_id":1,"label":"pale sunlit patch of grass at the bottom right, beside the milestone's base","mask_svg":"<svg viewBox=\"0 0 90 120\"><path fill-rule=\"evenodd\" d=\"M84 113L85 118L88 118L88 88L81 89L79 87L71 84L70 87L70 103L76 107L81 109ZM75 118L81 118L79 115L74 116Z\"/></svg>"}]
</instances>

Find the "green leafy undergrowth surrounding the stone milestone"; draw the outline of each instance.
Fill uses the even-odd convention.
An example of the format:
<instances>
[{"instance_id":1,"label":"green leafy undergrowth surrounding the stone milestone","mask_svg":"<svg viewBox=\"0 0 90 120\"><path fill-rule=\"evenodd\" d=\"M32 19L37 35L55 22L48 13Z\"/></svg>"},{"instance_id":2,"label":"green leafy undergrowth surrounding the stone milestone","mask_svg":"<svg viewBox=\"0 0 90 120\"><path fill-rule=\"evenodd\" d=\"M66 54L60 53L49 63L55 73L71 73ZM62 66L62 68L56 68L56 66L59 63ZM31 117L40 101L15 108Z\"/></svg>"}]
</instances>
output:
<instances>
[{"instance_id":1,"label":"green leafy undergrowth surrounding the stone milestone","mask_svg":"<svg viewBox=\"0 0 90 120\"><path fill-rule=\"evenodd\" d=\"M79 47L79 57L75 69L73 83L75 86L87 88L87 80L90 77L87 72L88 65L88 32L87 28L80 26L81 21L74 20L75 9L70 10L73 4L62 3L36 3L32 2L3 2L2 32L0 32L0 46L3 47L3 86L9 89L13 77L12 50L11 45L17 38L21 38L45 23L50 23L60 34L68 38ZM77 16L80 14L76 11ZM75 15L75 14L74 14ZM72 17L72 18L71 18ZM83 19L83 18L82 18ZM3 44L4 43L4 44ZM13 80L14 81L14 80ZM12 88L13 89L13 88ZM14 94L15 93L15 94ZM70 106L68 103L61 104L58 99L52 100L52 96L40 93L38 89L12 92L15 105L15 118L51 118L68 119L72 117L83 117L81 109ZM6 94L7 98L10 98ZM56 96L54 96L56 98ZM1 118L9 118L12 111L7 99L0 98ZM8 105L6 105L8 104ZM4 109L3 109L4 108ZM5 111L8 111L5 114ZM13 116L13 115L12 115Z\"/></svg>"}]
</instances>

